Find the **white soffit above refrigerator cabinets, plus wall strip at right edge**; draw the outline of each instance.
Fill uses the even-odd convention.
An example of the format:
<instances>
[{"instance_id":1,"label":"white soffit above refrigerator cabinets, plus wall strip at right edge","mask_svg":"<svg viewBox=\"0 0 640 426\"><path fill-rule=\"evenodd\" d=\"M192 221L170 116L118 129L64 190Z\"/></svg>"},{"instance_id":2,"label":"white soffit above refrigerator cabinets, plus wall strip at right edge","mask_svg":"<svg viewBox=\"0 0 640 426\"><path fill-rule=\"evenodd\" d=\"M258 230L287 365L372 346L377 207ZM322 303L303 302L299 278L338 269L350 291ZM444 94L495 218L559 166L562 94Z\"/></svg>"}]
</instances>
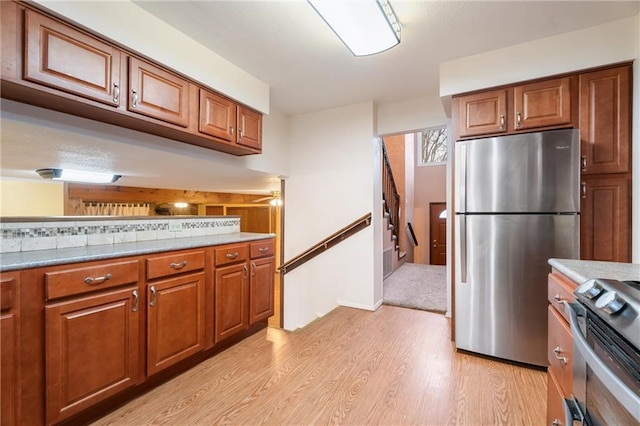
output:
<instances>
[{"instance_id":1,"label":"white soffit above refrigerator cabinets, plus wall strip at right edge","mask_svg":"<svg viewBox=\"0 0 640 426\"><path fill-rule=\"evenodd\" d=\"M617 62L634 62L632 261L640 263L640 15L440 64L451 95Z\"/></svg>"}]
</instances>

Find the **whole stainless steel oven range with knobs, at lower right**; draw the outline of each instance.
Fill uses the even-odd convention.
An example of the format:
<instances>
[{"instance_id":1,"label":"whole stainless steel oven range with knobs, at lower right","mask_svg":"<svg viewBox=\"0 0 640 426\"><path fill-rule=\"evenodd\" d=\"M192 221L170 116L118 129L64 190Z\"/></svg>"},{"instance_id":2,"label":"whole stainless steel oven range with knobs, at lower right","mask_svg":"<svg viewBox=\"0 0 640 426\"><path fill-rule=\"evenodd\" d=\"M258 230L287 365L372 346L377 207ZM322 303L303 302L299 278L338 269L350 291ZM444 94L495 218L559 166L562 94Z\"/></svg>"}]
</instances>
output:
<instances>
[{"instance_id":1,"label":"whole stainless steel oven range with knobs, at lower right","mask_svg":"<svg viewBox=\"0 0 640 426\"><path fill-rule=\"evenodd\" d=\"M640 283L590 280L575 295L566 425L640 425Z\"/></svg>"}]
</instances>

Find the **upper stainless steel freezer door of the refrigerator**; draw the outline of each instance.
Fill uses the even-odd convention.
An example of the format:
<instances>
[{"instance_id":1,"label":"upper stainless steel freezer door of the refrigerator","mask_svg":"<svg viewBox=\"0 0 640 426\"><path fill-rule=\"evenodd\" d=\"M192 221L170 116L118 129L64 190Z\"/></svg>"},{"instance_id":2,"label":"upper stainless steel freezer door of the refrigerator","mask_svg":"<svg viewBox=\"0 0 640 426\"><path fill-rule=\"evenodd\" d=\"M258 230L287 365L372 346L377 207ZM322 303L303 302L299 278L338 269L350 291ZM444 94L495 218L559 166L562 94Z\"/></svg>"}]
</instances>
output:
<instances>
[{"instance_id":1,"label":"upper stainless steel freezer door of the refrigerator","mask_svg":"<svg viewBox=\"0 0 640 426\"><path fill-rule=\"evenodd\" d=\"M579 130L457 142L456 211L579 212Z\"/></svg>"}]
</instances>

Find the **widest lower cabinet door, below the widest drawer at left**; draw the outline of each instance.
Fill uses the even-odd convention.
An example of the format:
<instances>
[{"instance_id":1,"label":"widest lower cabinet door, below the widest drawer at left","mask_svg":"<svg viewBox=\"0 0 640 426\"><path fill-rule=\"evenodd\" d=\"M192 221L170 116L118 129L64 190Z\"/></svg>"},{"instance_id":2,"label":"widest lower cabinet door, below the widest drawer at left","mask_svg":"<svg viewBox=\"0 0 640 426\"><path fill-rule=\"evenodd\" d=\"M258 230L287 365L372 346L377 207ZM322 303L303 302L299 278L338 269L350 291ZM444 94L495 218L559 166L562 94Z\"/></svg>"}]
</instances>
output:
<instances>
[{"instance_id":1,"label":"widest lower cabinet door, below the widest drawer at left","mask_svg":"<svg viewBox=\"0 0 640 426\"><path fill-rule=\"evenodd\" d=\"M134 288L45 307L47 423L138 382Z\"/></svg>"}]
</instances>

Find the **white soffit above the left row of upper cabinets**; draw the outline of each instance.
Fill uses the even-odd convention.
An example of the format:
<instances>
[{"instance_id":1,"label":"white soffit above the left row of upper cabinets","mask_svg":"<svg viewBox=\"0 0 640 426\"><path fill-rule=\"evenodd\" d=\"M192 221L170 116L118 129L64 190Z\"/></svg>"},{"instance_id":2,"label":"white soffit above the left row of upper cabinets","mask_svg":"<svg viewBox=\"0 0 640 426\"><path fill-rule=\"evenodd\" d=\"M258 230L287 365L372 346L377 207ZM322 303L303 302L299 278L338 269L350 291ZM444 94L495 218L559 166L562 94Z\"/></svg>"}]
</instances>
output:
<instances>
[{"instance_id":1,"label":"white soffit above the left row of upper cabinets","mask_svg":"<svg viewBox=\"0 0 640 426\"><path fill-rule=\"evenodd\" d=\"M128 0L35 0L45 8L263 113L269 86ZM215 72L212 72L214 71Z\"/></svg>"}]
</instances>

